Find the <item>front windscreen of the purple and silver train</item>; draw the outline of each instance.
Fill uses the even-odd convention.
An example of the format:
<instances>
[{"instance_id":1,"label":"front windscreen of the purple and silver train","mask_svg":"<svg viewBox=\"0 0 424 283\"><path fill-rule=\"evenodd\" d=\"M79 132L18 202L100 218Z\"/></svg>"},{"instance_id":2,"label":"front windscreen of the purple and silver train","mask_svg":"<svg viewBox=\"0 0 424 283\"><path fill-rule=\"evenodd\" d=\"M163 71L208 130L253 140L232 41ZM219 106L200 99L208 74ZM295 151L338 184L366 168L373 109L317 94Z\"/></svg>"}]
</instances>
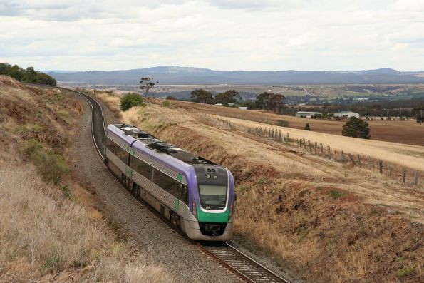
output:
<instances>
[{"instance_id":1,"label":"front windscreen of the purple and silver train","mask_svg":"<svg viewBox=\"0 0 424 283\"><path fill-rule=\"evenodd\" d=\"M227 200L227 186L199 185L200 204L206 210L222 210Z\"/></svg>"}]
</instances>

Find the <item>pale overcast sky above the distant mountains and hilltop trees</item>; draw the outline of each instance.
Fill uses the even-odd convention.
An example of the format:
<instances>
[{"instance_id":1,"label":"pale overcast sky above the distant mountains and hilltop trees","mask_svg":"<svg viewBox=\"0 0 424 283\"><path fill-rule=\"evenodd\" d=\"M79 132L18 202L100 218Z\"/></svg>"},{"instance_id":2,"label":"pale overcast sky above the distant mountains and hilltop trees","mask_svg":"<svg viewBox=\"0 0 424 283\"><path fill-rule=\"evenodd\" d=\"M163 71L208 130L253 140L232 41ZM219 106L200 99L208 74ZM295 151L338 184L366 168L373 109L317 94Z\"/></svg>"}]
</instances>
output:
<instances>
[{"instance_id":1,"label":"pale overcast sky above the distant mountains and hilltop trees","mask_svg":"<svg viewBox=\"0 0 424 283\"><path fill-rule=\"evenodd\" d=\"M0 62L39 70L424 70L424 0L0 0Z\"/></svg>"}]
</instances>

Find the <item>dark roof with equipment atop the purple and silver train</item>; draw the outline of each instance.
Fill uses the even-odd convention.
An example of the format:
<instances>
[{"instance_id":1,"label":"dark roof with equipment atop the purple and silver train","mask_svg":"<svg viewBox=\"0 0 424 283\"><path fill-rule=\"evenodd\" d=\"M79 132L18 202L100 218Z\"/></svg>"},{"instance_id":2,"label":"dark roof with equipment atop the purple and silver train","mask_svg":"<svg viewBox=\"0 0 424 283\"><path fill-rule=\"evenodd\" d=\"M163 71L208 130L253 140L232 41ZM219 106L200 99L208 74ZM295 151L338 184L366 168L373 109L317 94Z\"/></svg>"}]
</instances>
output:
<instances>
[{"instance_id":1,"label":"dark roof with equipment atop the purple and silver train","mask_svg":"<svg viewBox=\"0 0 424 283\"><path fill-rule=\"evenodd\" d=\"M148 148L155 152L165 153L166 155L180 160L187 165L216 165L210 160L202 158L199 155L195 155L194 153L190 153L182 148L178 148L170 143L166 143L165 141L160 140L154 135L150 135L144 130L140 130L133 125L113 124L113 126L121 130L123 133L116 133L115 131L112 131L118 135L125 135L126 137L123 138L125 138L129 145L133 145L133 148L137 148L139 150L141 148ZM110 126L108 126L108 129L111 130L109 127Z\"/></svg>"}]
</instances>

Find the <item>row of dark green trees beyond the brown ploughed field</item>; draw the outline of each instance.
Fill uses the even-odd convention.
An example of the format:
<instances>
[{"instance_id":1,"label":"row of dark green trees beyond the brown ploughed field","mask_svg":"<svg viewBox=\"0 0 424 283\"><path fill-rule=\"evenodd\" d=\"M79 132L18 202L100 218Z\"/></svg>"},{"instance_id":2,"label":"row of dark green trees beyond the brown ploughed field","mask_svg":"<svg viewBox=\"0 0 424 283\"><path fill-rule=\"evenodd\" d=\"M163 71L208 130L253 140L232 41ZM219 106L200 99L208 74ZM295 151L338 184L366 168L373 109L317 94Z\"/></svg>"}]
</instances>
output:
<instances>
[{"instance_id":1,"label":"row of dark green trees beyond the brown ploughed field","mask_svg":"<svg viewBox=\"0 0 424 283\"><path fill-rule=\"evenodd\" d=\"M284 96L278 93L259 93L254 101L241 101L240 93L235 90L217 93L215 96L204 89L197 89L190 93L193 102L205 104L222 104L228 106L229 103L237 103L239 106L246 106L249 109L267 109L275 113L281 113L284 106Z\"/></svg>"}]
</instances>

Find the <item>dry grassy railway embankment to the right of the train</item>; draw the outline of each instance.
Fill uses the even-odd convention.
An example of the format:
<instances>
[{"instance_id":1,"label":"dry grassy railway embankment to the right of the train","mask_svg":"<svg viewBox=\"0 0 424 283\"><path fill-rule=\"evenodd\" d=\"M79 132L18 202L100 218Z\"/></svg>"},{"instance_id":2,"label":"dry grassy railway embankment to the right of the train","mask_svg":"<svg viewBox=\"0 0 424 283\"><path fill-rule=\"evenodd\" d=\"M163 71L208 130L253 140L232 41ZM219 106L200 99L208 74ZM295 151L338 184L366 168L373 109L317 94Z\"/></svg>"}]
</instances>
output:
<instances>
[{"instance_id":1,"label":"dry grassy railway embankment to the right of the train","mask_svg":"<svg viewBox=\"0 0 424 283\"><path fill-rule=\"evenodd\" d=\"M422 190L226 128L201 111L149 104L119 115L232 170L236 240L281 269L312 282L422 279Z\"/></svg>"}]
</instances>

